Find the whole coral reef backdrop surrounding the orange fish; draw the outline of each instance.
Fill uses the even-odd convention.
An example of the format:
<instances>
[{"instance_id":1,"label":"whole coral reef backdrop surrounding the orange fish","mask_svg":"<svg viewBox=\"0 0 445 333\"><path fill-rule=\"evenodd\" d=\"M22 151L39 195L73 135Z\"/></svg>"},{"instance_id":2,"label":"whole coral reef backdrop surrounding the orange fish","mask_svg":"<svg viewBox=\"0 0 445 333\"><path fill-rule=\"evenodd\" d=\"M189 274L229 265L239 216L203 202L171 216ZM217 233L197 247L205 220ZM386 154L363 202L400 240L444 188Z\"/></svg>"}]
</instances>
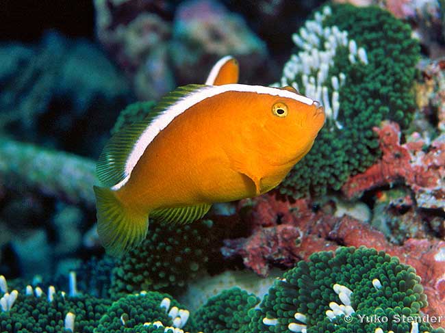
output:
<instances>
[{"instance_id":1,"label":"whole coral reef backdrop surrounding the orange fish","mask_svg":"<svg viewBox=\"0 0 445 333\"><path fill-rule=\"evenodd\" d=\"M445 332L443 1L92 2L88 38L0 42L0 332ZM320 101L312 150L108 256L105 141L225 55Z\"/></svg>"}]
</instances>

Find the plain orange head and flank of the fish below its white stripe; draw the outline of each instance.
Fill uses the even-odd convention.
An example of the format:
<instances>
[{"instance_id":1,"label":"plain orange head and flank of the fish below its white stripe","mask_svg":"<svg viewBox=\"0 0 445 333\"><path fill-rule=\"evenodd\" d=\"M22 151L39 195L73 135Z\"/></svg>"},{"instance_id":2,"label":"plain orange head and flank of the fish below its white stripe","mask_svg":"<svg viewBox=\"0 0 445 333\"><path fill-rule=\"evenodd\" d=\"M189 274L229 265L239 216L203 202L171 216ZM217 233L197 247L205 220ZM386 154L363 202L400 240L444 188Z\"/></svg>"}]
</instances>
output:
<instances>
[{"instance_id":1,"label":"plain orange head and flank of the fish below its white stripe","mask_svg":"<svg viewBox=\"0 0 445 333\"><path fill-rule=\"evenodd\" d=\"M298 140L288 137L290 143L284 146L285 139L277 140L274 132L279 125L268 119L273 117L271 105L282 98L255 94L225 92L175 118L151 142L116 196L153 211L238 200L277 186L311 148L324 119L314 105L310 116L314 126L303 129L297 119L292 120L290 132L304 134ZM292 102L287 102L292 109ZM249 103L251 112L240 114L236 107L240 103ZM296 118L297 107L290 117Z\"/></svg>"}]
</instances>

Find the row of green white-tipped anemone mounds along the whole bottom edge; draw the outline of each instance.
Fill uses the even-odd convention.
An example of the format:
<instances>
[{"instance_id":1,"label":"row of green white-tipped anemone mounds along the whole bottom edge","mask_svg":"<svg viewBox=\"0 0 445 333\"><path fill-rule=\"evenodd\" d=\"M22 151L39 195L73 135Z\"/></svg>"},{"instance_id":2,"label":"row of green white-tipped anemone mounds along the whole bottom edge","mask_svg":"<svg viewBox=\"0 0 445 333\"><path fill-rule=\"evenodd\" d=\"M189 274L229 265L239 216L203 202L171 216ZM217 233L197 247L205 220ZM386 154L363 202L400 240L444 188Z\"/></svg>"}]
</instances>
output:
<instances>
[{"instance_id":1,"label":"row of green white-tipped anemone mounds along the whole bottom edge","mask_svg":"<svg viewBox=\"0 0 445 333\"><path fill-rule=\"evenodd\" d=\"M0 289L0 327L11 333L445 332L420 314L427 297L415 270L363 247L312 254L276 280L260 304L255 295L233 288L196 312L157 291L114 302L84 294L77 290L75 274L68 293L53 286L45 293L31 285L10 291L4 276ZM394 320L364 320L374 316Z\"/></svg>"}]
</instances>

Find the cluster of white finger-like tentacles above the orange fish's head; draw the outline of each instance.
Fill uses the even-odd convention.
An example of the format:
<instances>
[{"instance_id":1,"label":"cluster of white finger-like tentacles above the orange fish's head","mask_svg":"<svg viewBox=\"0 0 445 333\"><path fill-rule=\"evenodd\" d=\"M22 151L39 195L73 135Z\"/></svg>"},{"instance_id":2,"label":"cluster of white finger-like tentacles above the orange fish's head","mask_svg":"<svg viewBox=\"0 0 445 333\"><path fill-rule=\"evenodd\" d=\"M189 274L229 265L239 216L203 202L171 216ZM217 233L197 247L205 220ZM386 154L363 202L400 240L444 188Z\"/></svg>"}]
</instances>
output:
<instances>
[{"instance_id":1,"label":"cluster of white finger-like tentacles above the orange fish's head","mask_svg":"<svg viewBox=\"0 0 445 333\"><path fill-rule=\"evenodd\" d=\"M321 101L329 120L329 126L337 126L340 109L339 90L346 81L344 72L329 79L329 68L334 66L335 55L347 49L350 64L366 66L368 57L364 47L357 48L357 43L348 38L348 31L340 31L337 26L323 27L323 21L331 15L331 8L326 6L322 12L314 14L314 20L308 20L292 40L301 51L292 55L285 63L281 86L291 84L296 90L316 101ZM339 50L338 50L339 49ZM298 75L298 77L297 77Z\"/></svg>"}]
</instances>

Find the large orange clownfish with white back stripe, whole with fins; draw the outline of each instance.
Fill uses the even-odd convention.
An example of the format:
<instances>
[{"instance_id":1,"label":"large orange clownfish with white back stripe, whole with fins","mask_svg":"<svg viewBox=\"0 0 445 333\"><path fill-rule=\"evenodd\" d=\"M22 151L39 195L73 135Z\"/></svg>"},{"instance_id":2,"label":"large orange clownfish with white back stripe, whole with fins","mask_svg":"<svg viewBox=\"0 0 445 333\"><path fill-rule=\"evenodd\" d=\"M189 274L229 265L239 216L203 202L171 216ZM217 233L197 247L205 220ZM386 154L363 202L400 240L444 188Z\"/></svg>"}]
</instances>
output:
<instances>
[{"instance_id":1,"label":"large orange clownfish with white back stripe, whole with fins","mask_svg":"<svg viewBox=\"0 0 445 333\"><path fill-rule=\"evenodd\" d=\"M237 82L238 62L224 57L206 85L170 92L107 143L94 193L109 254L138 245L149 217L190 223L215 202L270 191L312 148L325 122L318 102L290 87Z\"/></svg>"}]
</instances>

